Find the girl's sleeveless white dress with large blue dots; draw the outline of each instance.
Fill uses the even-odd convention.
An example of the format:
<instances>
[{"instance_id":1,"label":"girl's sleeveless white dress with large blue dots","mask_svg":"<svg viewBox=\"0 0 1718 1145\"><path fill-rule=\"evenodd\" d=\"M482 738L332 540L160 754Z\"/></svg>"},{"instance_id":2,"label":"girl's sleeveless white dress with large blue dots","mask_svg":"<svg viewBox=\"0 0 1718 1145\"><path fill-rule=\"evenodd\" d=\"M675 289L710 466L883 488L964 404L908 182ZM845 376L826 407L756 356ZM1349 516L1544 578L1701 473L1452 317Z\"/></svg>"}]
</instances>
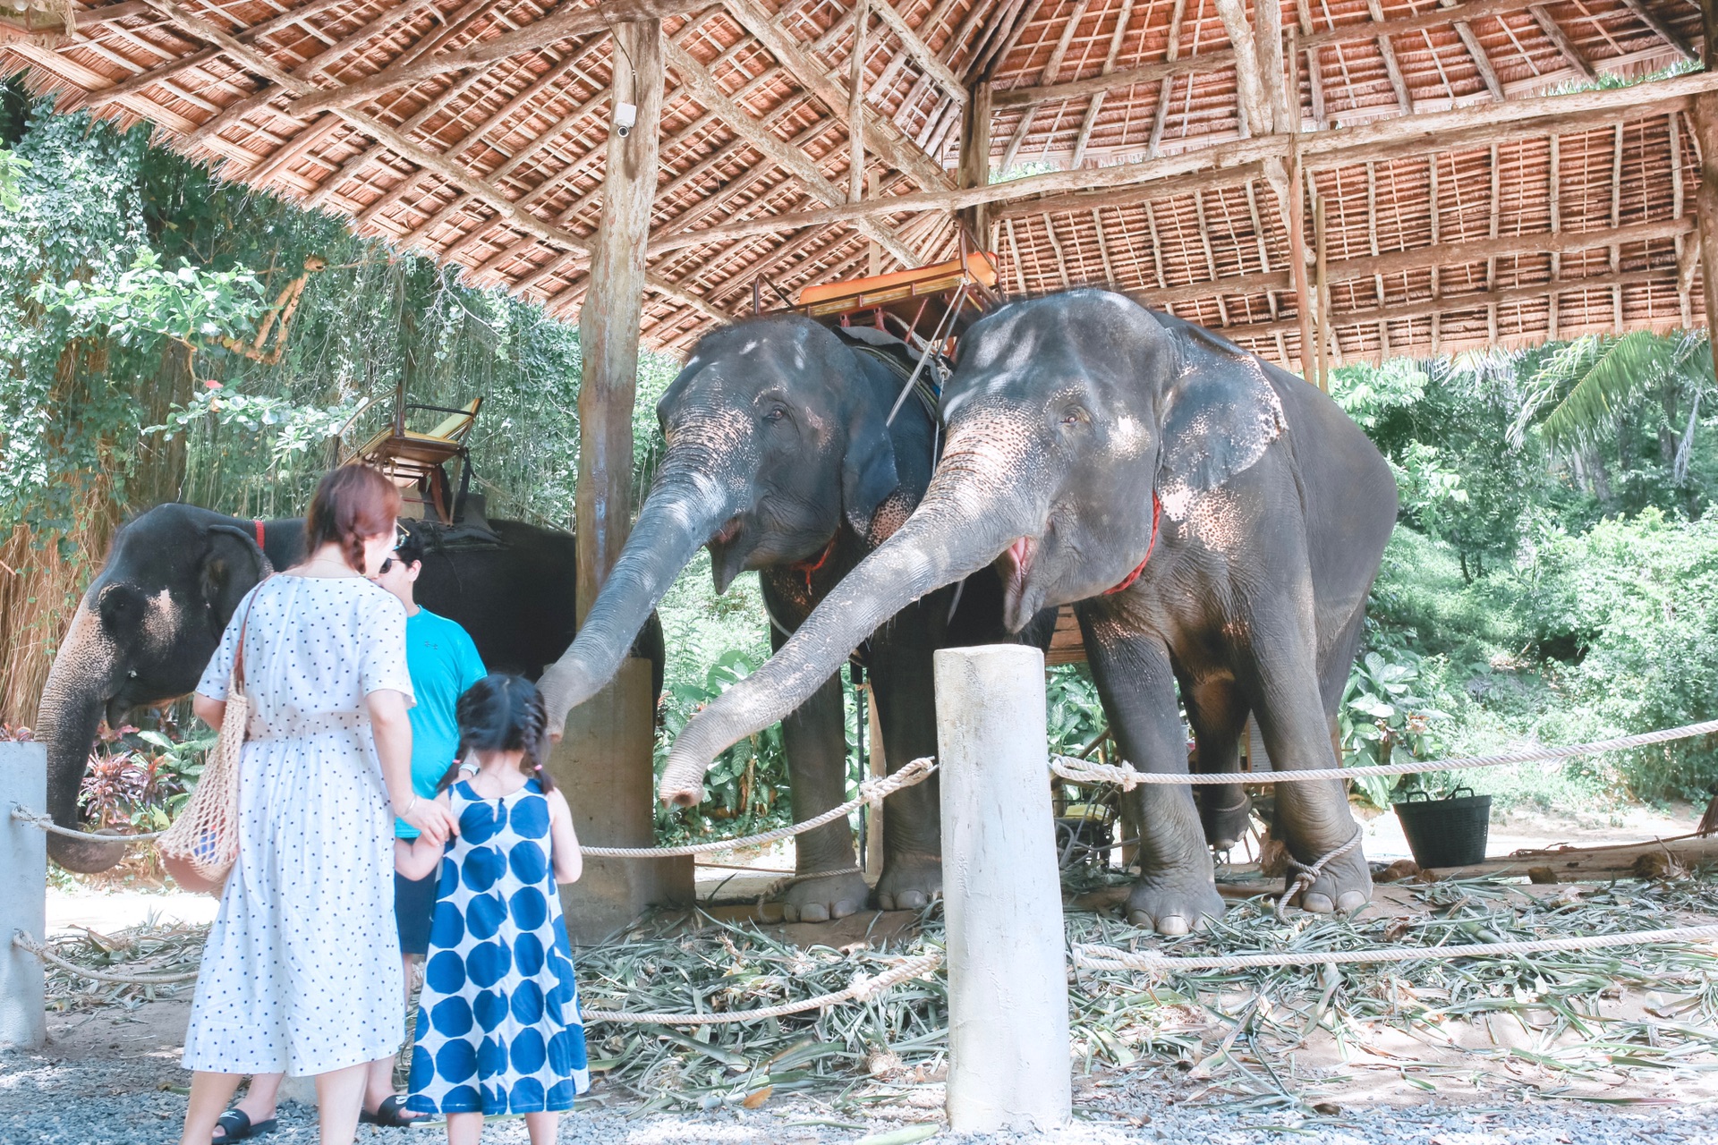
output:
<instances>
[{"instance_id":1,"label":"girl's sleeveless white dress with large blue dots","mask_svg":"<svg viewBox=\"0 0 1718 1145\"><path fill-rule=\"evenodd\" d=\"M548 800L536 779L498 800L459 781L450 797L459 836L442 860L405 1107L572 1109L591 1073Z\"/></svg>"}]
</instances>

